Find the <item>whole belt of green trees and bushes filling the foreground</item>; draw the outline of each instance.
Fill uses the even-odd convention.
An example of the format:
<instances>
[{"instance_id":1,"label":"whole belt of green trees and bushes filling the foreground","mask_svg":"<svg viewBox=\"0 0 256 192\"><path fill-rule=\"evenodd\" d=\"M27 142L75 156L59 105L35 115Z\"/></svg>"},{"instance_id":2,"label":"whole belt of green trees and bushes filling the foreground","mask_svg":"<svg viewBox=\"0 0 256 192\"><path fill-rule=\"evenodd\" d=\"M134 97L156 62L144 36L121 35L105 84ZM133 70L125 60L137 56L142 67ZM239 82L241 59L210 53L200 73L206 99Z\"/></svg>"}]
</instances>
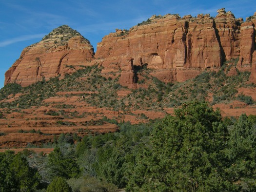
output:
<instances>
[{"instance_id":1,"label":"whole belt of green trees and bushes filling the foreground","mask_svg":"<svg viewBox=\"0 0 256 192\"><path fill-rule=\"evenodd\" d=\"M106 119L105 119L106 120ZM254 191L256 116L226 118L206 102L116 133L62 134L52 153L0 153L1 191Z\"/></svg>"}]
</instances>

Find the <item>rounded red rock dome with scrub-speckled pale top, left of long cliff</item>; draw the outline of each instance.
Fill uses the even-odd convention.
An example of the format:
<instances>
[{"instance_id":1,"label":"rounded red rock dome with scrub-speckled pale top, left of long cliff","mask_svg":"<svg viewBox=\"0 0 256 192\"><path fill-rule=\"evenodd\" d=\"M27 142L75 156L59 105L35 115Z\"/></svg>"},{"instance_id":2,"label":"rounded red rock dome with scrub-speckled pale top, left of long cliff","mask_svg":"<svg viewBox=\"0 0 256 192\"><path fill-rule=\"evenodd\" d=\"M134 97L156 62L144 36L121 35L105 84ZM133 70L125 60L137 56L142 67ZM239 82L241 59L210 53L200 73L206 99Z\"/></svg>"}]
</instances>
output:
<instances>
[{"instance_id":1,"label":"rounded red rock dome with scrub-speckled pale top, left of long cliff","mask_svg":"<svg viewBox=\"0 0 256 192\"><path fill-rule=\"evenodd\" d=\"M53 30L39 43L26 47L20 58L5 73L5 85L16 82L28 86L34 82L72 73L69 65L84 65L94 56L90 42L67 25Z\"/></svg>"}]
</instances>

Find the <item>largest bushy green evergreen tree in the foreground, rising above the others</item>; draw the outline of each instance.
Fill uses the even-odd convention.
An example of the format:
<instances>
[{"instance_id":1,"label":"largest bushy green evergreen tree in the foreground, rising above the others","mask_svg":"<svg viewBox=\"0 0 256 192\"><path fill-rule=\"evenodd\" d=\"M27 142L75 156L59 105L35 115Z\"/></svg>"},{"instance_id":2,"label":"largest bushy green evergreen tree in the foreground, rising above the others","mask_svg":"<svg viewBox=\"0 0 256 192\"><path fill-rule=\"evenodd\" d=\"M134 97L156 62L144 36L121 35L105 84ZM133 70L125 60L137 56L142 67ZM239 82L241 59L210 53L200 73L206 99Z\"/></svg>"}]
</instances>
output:
<instances>
[{"instance_id":1,"label":"largest bushy green evergreen tree in the foreground, rising above the others","mask_svg":"<svg viewBox=\"0 0 256 192\"><path fill-rule=\"evenodd\" d=\"M185 103L155 127L136 156L129 191L233 190L222 175L227 129L207 103Z\"/></svg>"}]
</instances>

